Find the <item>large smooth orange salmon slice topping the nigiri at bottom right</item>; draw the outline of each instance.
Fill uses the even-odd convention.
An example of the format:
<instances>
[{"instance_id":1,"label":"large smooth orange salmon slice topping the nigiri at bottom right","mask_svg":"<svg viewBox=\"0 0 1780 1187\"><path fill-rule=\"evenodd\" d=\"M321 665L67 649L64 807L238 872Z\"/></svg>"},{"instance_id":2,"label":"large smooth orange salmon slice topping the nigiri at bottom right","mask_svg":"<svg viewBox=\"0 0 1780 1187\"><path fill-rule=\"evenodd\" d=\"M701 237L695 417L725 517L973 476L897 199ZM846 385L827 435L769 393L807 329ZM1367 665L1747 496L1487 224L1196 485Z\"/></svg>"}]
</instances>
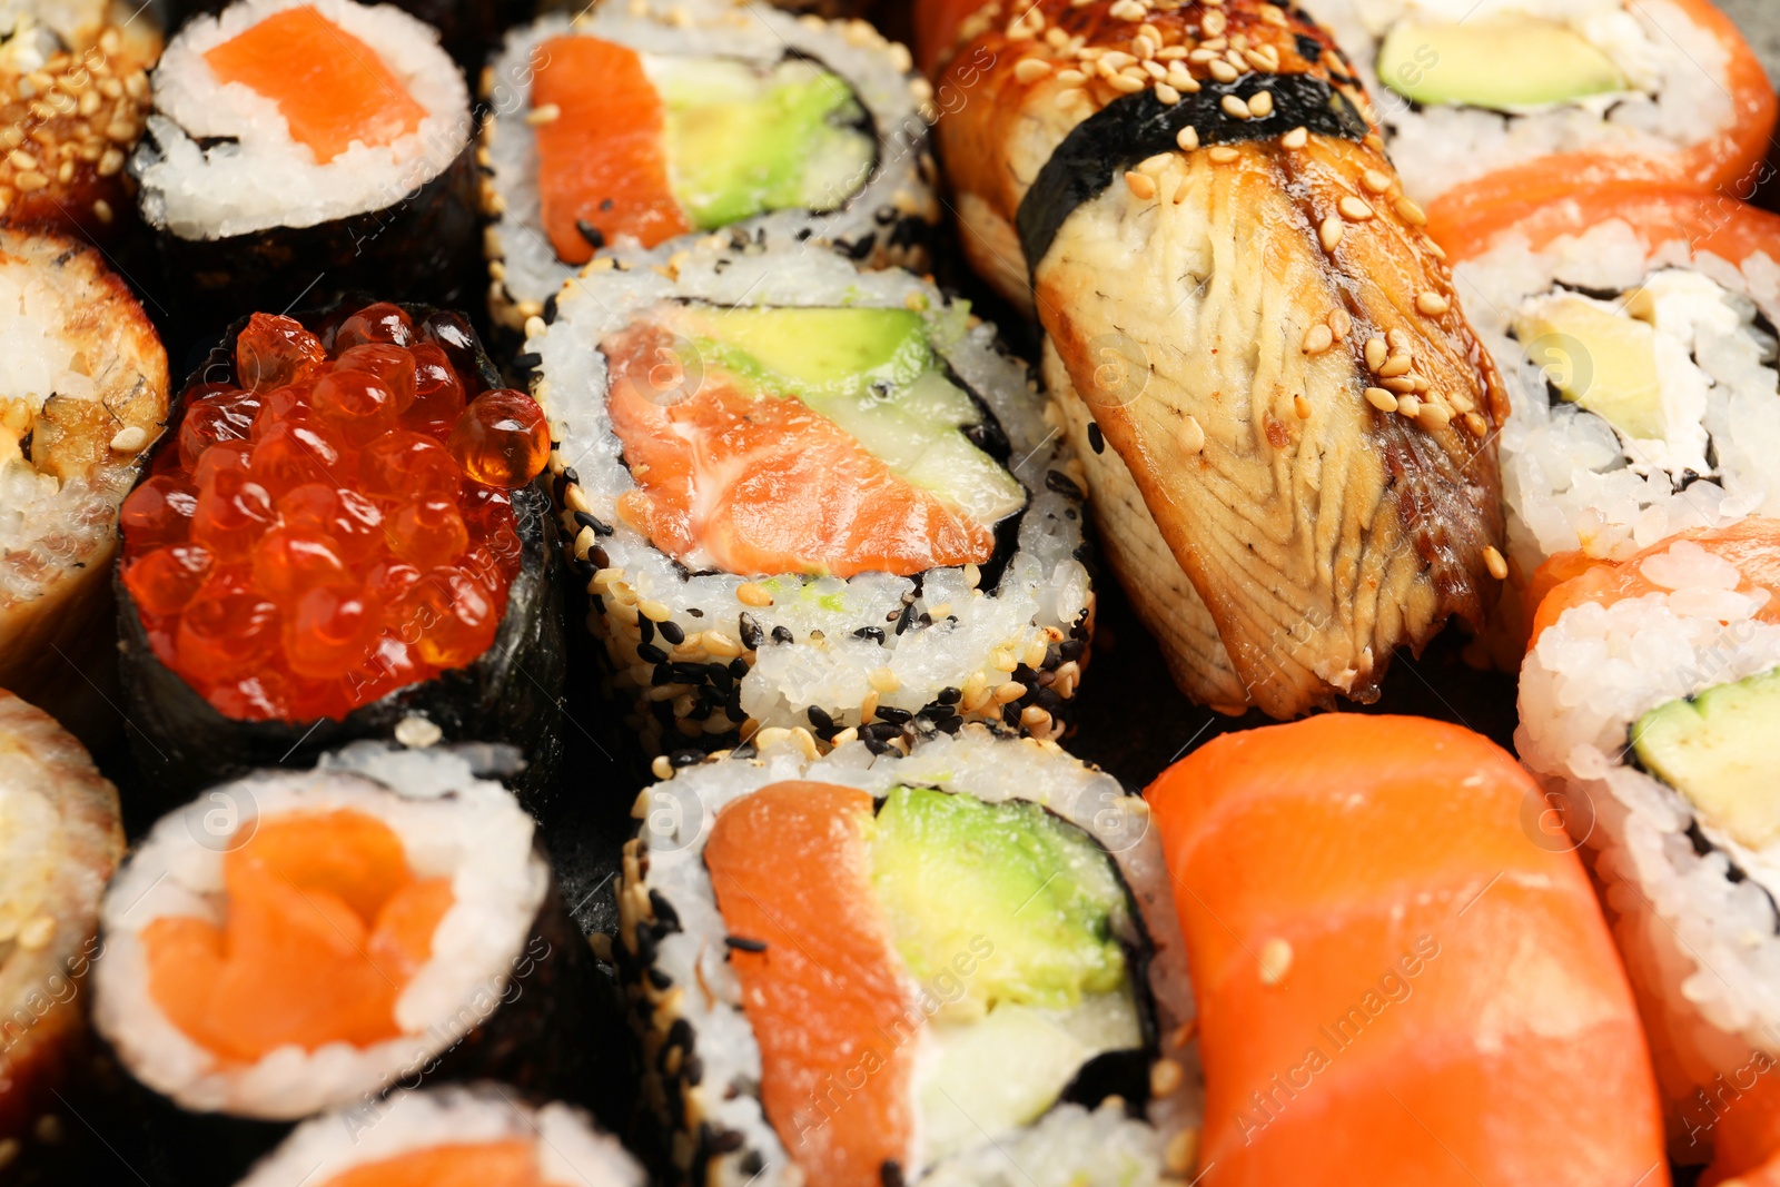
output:
<instances>
[{"instance_id":1,"label":"large smooth orange salmon slice topping the nigiri at bottom right","mask_svg":"<svg viewBox=\"0 0 1780 1187\"><path fill-rule=\"evenodd\" d=\"M1207 1187L1668 1183L1625 970L1582 863L1529 840L1543 797L1508 753L1324 715L1218 739L1148 799Z\"/></svg>"}]
</instances>

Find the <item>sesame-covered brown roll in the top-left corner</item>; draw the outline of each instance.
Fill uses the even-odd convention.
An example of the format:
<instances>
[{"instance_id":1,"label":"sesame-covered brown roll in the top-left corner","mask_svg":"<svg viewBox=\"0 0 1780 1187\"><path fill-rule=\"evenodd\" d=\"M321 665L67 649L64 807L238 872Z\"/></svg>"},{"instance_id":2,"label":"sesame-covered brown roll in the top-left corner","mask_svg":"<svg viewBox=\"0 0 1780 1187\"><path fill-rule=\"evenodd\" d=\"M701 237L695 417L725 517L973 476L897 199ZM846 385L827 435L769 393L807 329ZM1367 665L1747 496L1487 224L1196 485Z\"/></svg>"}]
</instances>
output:
<instances>
[{"instance_id":1,"label":"sesame-covered brown roll in the top-left corner","mask_svg":"<svg viewBox=\"0 0 1780 1187\"><path fill-rule=\"evenodd\" d=\"M135 210L125 160L158 57L160 30L135 5L0 9L0 224L117 238Z\"/></svg>"}]
</instances>

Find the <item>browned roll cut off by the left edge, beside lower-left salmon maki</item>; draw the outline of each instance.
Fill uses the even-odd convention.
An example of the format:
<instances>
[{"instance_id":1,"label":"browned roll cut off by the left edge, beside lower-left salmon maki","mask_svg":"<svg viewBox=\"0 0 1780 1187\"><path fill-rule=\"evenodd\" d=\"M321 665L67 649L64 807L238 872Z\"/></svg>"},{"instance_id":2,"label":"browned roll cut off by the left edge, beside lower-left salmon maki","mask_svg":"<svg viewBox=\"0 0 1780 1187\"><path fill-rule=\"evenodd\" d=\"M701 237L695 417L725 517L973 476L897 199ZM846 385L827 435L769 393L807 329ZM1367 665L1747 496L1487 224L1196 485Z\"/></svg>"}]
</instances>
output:
<instances>
[{"instance_id":1,"label":"browned roll cut off by the left edge, beside lower-left salmon maki","mask_svg":"<svg viewBox=\"0 0 1780 1187\"><path fill-rule=\"evenodd\" d=\"M121 856L117 788L48 714L0 690L0 1173L61 1112Z\"/></svg>"}]
</instances>

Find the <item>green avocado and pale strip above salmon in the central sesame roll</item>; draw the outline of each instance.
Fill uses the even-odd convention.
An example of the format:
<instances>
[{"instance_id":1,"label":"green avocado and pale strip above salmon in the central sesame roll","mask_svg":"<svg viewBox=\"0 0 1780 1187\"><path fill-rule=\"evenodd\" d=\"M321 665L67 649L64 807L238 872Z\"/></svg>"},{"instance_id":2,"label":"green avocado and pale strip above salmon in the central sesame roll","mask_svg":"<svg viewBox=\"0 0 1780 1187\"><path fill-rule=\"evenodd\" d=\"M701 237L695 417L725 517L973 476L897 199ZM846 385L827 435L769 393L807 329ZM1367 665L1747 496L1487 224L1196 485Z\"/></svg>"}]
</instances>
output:
<instances>
[{"instance_id":1,"label":"green avocado and pale strip above salmon in the central sesame roll","mask_svg":"<svg viewBox=\"0 0 1780 1187\"><path fill-rule=\"evenodd\" d=\"M676 327L760 395L796 397L874 457L977 523L1025 505L1025 488L967 429L983 411L947 379L911 310L684 306Z\"/></svg>"}]
</instances>

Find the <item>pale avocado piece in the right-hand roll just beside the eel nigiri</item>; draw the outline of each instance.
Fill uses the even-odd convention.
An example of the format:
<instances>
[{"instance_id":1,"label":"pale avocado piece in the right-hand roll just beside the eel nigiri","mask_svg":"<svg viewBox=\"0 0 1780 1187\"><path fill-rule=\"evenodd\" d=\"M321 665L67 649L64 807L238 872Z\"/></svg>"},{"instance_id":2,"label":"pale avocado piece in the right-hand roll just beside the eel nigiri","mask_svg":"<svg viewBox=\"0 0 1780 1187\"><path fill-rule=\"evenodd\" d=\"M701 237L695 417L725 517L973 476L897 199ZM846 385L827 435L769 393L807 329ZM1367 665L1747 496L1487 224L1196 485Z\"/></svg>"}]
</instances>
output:
<instances>
[{"instance_id":1,"label":"pale avocado piece in the right-hand roll just beside the eel nigiri","mask_svg":"<svg viewBox=\"0 0 1780 1187\"><path fill-rule=\"evenodd\" d=\"M1629 438L1664 438L1655 327L1579 294L1559 292L1524 308L1515 336L1563 399Z\"/></svg>"}]
</instances>

